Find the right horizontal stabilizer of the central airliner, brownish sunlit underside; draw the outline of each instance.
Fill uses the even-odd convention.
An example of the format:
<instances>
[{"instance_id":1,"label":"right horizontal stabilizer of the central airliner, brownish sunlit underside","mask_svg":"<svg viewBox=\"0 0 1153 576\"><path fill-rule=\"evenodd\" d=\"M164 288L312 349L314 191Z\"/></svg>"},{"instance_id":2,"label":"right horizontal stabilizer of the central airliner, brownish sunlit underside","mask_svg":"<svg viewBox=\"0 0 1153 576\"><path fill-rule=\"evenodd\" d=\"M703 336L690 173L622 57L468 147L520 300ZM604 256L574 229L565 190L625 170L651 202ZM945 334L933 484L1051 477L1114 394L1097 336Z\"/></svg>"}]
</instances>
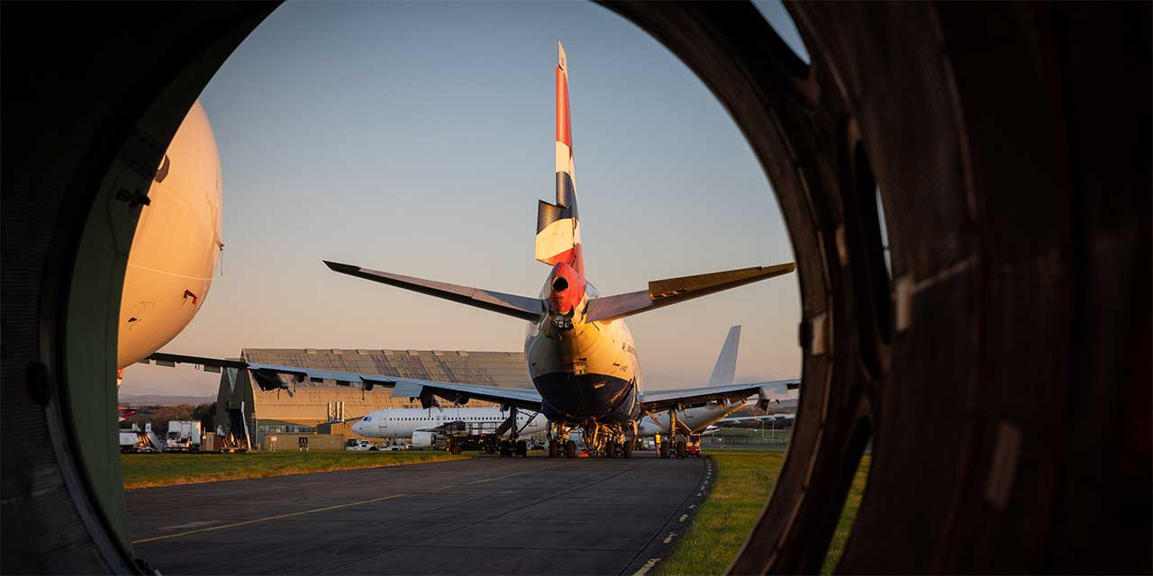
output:
<instances>
[{"instance_id":1,"label":"right horizontal stabilizer of the central airliner, brownish sunlit underside","mask_svg":"<svg viewBox=\"0 0 1153 576\"><path fill-rule=\"evenodd\" d=\"M654 280L649 282L648 290L590 300L586 308L585 321L608 321L656 310L729 288L787 274L796 267L797 265L790 262L776 266L753 266L695 276Z\"/></svg>"}]
</instances>

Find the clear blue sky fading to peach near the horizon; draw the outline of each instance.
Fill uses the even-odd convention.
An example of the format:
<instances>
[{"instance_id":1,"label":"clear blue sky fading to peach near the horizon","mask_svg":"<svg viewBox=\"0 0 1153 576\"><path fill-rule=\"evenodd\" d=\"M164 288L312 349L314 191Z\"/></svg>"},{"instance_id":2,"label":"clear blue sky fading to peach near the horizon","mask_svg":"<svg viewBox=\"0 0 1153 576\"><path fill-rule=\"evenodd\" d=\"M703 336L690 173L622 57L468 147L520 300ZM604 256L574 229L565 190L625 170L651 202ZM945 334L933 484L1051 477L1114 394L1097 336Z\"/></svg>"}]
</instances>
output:
<instances>
[{"instance_id":1,"label":"clear blue sky fading to peach near the horizon","mask_svg":"<svg viewBox=\"0 0 1153 576\"><path fill-rule=\"evenodd\" d=\"M807 61L779 2L758 2ZM525 323L330 272L322 259L535 296L536 200L553 199L557 41L568 56L589 280L792 262L732 119L666 48L585 2L288 2L201 101L220 151L223 263L164 351L515 350ZM796 274L627 319L647 389L707 381L729 326L737 380L800 372ZM121 394L214 394L218 374L134 365Z\"/></svg>"}]
</instances>

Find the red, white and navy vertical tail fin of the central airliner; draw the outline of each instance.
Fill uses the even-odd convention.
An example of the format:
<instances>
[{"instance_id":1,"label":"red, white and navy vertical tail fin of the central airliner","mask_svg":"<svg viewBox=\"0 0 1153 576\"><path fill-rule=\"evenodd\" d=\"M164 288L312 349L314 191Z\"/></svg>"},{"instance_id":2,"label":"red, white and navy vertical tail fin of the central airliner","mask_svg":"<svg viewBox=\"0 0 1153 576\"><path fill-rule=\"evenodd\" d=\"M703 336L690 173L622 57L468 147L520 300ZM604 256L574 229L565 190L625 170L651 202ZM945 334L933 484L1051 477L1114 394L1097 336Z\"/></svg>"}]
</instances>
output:
<instances>
[{"instance_id":1,"label":"red, white and navy vertical tail fin of the central airliner","mask_svg":"<svg viewBox=\"0 0 1153 576\"><path fill-rule=\"evenodd\" d=\"M536 259L548 265L566 263L585 275L576 214L572 122L568 115L568 59L557 43L557 199L536 206Z\"/></svg>"}]
</instances>

